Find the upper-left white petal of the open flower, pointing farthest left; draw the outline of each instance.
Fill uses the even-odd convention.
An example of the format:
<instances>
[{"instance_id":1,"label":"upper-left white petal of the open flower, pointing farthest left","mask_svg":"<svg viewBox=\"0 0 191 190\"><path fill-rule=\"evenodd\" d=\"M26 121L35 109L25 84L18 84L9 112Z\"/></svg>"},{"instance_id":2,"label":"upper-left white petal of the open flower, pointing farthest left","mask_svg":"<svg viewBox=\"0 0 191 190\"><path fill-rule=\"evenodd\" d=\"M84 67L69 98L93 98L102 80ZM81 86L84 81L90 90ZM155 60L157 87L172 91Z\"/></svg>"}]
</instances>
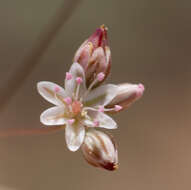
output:
<instances>
[{"instance_id":1,"label":"upper-left white petal of the open flower, pointing farthest left","mask_svg":"<svg viewBox=\"0 0 191 190\"><path fill-rule=\"evenodd\" d=\"M59 89L59 91L55 92L56 88ZM53 82L38 82L37 90L44 99L46 99L48 102L54 105L63 104L62 100L66 97L65 90L61 86Z\"/></svg>"}]
</instances>

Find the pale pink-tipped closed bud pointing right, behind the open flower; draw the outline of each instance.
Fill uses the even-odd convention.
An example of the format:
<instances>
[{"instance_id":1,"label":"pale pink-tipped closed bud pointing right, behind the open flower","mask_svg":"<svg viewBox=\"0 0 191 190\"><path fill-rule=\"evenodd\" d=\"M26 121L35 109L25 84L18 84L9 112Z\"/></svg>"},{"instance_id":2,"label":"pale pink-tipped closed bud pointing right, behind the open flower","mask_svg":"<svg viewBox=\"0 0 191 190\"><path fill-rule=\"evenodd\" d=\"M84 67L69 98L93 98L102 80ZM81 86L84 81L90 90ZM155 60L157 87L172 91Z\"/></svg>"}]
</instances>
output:
<instances>
[{"instance_id":1,"label":"pale pink-tipped closed bud pointing right, behind the open flower","mask_svg":"<svg viewBox=\"0 0 191 190\"><path fill-rule=\"evenodd\" d=\"M144 86L142 84L119 84L116 97L106 107L112 108L119 105L122 107L119 111L127 109L143 95L143 92ZM116 111L112 111L112 113L116 113Z\"/></svg>"}]
</instances>

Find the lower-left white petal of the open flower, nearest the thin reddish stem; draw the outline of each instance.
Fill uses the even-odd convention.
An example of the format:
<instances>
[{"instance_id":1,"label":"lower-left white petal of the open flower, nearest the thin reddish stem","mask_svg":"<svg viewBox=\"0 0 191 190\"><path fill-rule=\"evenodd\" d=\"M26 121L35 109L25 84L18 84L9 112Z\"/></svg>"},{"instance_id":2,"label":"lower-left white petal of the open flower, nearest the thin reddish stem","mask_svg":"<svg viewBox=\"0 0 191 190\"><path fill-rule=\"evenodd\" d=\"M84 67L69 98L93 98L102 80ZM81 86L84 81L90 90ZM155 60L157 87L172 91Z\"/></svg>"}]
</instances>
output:
<instances>
[{"instance_id":1,"label":"lower-left white petal of the open flower, nearest the thin reddish stem","mask_svg":"<svg viewBox=\"0 0 191 190\"><path fill-rule=\"evenodd\" d=\"M41 116L40 121L44 125L64 125L66 118L64 117L64 106L55 106L45 110Z\"/></svg>"}]
</instances>

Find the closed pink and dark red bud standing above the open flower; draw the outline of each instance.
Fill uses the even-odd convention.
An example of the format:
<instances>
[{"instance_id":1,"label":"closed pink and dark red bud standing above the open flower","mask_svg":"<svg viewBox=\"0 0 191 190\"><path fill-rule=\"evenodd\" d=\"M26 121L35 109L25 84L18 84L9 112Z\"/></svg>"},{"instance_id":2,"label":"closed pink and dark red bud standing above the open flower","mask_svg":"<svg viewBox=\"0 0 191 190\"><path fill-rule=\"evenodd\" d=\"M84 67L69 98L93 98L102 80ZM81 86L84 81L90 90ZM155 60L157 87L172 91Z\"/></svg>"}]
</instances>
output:
<instances>
[{"instance_id":1,"label":"closed pink and dark red bud standing above the open flower","mask_svg":"<svg viewBox=\"0 0 191 190\"><path fill-rule=\"evenodd\" d=\"M80 46L74 56L74 62L84 68L87 86L94 81L98 73L102 72L105 78L107 77L111 67L111 51L107 41L107 28L104 25Z\"/></svg>"}]
</instances>

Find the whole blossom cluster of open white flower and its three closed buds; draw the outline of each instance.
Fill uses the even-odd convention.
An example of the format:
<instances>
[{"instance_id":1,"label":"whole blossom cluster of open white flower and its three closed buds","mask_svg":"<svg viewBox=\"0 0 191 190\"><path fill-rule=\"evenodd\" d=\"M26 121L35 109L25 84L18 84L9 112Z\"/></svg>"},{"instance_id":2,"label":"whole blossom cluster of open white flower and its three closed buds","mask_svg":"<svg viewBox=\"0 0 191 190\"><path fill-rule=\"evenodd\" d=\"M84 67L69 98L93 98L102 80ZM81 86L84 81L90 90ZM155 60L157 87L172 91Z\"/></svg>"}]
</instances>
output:
<instances>
[{"instance_id":1,"label":"whole blossom cluster of open white flower and its three closed buds","mask_svg":"<svg viewBox=\"0 0 191 190\"><path fill-rule=\"evenodd\" d=\"M103 84L110 66L107 29L102 25L76 52L74 63L65 76L65 88L42 81L38 82L37 89L43 98L54 104L41 114L40 121L47 126L64 126L69 150L81 147L88 163L115 170L118 166L116 143L98 129L116 129L117 124L108 113L129 107L142 96L144 86Z\"/></svg>"}]
</instances>

